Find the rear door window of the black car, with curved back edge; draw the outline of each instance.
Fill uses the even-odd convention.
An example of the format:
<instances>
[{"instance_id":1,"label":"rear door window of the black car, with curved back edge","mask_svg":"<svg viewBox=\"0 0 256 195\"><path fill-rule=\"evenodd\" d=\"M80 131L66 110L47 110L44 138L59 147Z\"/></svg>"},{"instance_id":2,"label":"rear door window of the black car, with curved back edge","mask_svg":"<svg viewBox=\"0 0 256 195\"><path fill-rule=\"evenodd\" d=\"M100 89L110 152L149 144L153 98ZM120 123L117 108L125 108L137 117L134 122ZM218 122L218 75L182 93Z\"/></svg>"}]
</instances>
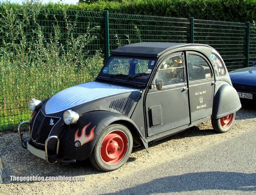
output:
<instances>
[{"instance_id":1,"label":"rear door window of the black car, with curved back edge","mask_svg":"<svg viewBox=\"0 0 256 195\"><path fill-rule=\"evenodd\" d=\"M191 81L212 78L212 71L204 58L188 54L188 78Z\"/></svg>"}]
</instances>

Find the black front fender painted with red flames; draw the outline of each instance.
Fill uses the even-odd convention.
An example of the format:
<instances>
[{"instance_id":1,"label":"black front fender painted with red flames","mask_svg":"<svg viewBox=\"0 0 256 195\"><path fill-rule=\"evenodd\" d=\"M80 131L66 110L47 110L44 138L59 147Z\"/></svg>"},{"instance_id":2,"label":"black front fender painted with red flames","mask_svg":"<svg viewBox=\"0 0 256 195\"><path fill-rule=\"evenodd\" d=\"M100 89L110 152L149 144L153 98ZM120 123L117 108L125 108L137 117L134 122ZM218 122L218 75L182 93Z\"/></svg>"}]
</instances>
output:
<instances>
[{"instance_id":1,"label":"black front fender painted with red flames","mask_svg":"<svg viewBox=\"0 0 256 195\"><path fill-rule=\"evenodd\" d=\"M80 116L77 124L70 126L65 125L60 140L61 156L67 159L85 160L92 153L98 137L106 127L119 120L130 122L130 124L133 124L134 127L137 128L130 118L109 111L85 113ZM85 134L82 134L82 129L84 129ZM76 148L74 145L77 139L81 142L81 147L79 148Z\"/></svg>"}]
</instances>

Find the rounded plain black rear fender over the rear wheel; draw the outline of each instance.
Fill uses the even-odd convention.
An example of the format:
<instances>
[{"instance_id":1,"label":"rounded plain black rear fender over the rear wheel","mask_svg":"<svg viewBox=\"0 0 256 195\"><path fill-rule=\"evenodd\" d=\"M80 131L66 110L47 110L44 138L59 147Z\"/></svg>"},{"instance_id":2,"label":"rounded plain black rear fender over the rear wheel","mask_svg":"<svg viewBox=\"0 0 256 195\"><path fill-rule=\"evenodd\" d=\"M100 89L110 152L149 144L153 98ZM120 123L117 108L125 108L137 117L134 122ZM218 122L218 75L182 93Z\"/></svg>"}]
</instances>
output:
<instances>
[{"instance_id":1,"label":"rounded plain black rear fender over the rear wheel","mask_svg":"<svg viewBox=\"0 0 256 195\"><path fill-rule=\"evenodd\" d=\"M212 119L237 112L241 108L237 91L229 84L222 84L214 96Z\"/></svg>"}]
</instances>

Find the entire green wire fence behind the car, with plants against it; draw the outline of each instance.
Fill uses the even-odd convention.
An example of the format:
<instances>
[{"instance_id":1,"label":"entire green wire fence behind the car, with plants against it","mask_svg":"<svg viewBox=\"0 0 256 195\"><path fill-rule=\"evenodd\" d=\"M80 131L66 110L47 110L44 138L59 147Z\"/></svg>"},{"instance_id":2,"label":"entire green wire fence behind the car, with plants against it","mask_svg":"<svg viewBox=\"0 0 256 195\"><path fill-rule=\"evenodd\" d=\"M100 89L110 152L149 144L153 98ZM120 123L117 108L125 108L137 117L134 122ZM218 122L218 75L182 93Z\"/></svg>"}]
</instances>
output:
<instances>
[{"instance_id":1,"label":"entire green wire fence behind the car, with plants against it","mask_svg":"<svg viewBox=\"0 0 256 195\"><path fill-rule=\"evenodd\" d=\"M0 130L28 120L28 99L47 99L94 79L111 50L141 41L208 44L229 70L256 61L253 24L108 11L0 9Z\"/></svg>"}]
</instances>

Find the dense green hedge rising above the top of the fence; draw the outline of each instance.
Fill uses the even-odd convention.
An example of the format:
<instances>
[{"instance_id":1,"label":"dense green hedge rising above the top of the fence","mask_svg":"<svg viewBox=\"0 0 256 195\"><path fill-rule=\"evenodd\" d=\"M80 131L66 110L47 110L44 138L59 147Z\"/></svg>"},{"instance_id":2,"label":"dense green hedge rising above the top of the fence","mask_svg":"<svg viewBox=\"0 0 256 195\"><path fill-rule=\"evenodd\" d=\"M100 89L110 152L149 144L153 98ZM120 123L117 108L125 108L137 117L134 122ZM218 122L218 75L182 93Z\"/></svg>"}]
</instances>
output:
<instances>
[{"instance_id":1,"label":"dense green hedge rising above the top of the fence","mask_svg":"<svg viewBox=\"0 0 256 195\"><path fill-rule=\"evenodd\" d=\"M76 6L75 6L76 7ZM80 3L80 9L177 18L253 22L256 0L123 0Z\"/></svg>"}]
</instances>

